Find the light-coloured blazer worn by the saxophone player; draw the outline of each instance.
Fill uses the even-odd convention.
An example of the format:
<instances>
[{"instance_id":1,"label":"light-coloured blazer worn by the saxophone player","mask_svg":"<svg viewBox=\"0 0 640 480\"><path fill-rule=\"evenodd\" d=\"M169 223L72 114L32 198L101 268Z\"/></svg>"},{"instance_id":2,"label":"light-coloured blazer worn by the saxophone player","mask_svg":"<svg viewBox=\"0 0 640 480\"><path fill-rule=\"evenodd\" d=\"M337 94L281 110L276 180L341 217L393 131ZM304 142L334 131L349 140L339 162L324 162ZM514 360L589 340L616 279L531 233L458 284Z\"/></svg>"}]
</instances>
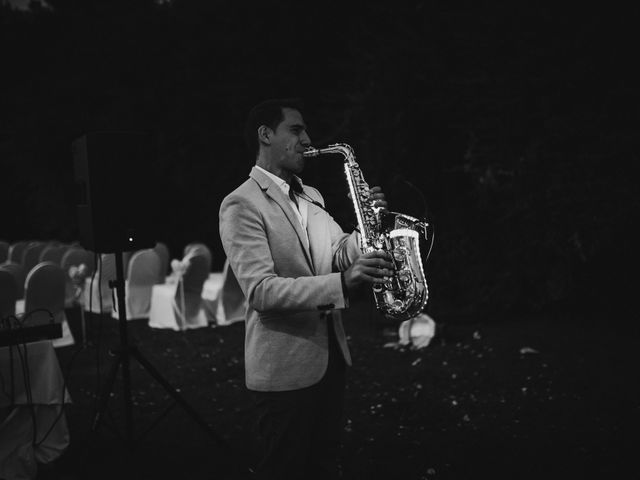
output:
<instances>
[{"instance_id":1,"label":"light-coloured blazer worn by the saxophone player","mask_svg":"<svg viewBox=\"0 0 640 480\"><path fill-rule=\"evenodd\" d=\"M340 316L346 305L339 272L360 254L358 238L309 204L307 246L280 187L255 167L249 177L220 206L222 245L249 304L246 384L258 391L308 387L327 368L327 312L351 364ZM315 188L305 185L304 193L324 205Z\"/></svg>"}]
</instances>

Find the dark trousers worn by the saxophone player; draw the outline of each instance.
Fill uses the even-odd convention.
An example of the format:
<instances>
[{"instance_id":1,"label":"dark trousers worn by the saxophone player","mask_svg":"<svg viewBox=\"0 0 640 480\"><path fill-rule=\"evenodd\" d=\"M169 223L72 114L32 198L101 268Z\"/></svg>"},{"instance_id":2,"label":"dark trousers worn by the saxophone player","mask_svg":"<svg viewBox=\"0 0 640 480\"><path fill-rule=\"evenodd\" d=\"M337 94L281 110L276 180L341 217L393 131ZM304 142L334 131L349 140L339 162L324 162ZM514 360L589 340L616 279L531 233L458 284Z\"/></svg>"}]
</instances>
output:
<instances>
[{"instance_id":1,"label":"dark trousers worn by the saxophone player","mask_svg":"<svg viewBox=\"0 0 640 480\"><path fill-rule=\"evenodd\" d=\"M251 392L258 416L260 479L337 479L346 366L332 323L329 365L319 383L300 390Z\"/></svg>"}]
</instances>

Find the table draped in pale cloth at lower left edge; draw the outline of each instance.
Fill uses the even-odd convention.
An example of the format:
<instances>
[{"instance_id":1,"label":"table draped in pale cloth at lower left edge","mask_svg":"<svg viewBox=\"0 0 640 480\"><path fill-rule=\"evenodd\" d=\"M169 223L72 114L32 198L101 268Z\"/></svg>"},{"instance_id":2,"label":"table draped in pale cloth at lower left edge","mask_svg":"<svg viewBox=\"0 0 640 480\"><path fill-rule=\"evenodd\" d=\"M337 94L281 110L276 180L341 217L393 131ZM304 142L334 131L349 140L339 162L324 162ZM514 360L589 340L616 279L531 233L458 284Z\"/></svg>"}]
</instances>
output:
<instances>
[{"instance_id":1,"label":"table draped in pale cloth at lower left edge","mask_svg":"<svg viewBox=\"0 0 640 480\"><path fill-rule=\"evenodd\" d=\"M71 397L51 340L0 348L0 380L0 478L36 478L37 464L55 460L70 442L63 403Z\"/></svg>"}]
</instances>

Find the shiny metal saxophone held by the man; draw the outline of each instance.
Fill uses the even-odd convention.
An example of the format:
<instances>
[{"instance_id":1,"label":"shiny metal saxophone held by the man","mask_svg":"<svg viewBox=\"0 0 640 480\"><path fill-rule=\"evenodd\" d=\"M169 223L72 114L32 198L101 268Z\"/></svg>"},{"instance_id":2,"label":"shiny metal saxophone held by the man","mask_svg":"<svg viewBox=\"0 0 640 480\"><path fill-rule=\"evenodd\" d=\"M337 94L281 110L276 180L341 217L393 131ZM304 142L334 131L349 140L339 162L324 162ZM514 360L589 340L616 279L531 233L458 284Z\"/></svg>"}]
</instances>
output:
<instances>
[{"instance_id":1,"label":"shiny metal saxophone held by the man","mask_svg":"<svg viewBox=\"0 0 640 480\"><path fill-rule=\"evenodd\" d=\"M344 157L344 171L360 230L360 249L363 253L384 250L391 255L394 264L393 277L373 286L376 308L393 320L415 317L429 297L420 254L420 237L427 241L428 224L409 215L374 207L369 185L349 145L336 143L320 149L309 147L303 155L317 157L327 153L339 153Z\"/></svg>"}]
</instances>

